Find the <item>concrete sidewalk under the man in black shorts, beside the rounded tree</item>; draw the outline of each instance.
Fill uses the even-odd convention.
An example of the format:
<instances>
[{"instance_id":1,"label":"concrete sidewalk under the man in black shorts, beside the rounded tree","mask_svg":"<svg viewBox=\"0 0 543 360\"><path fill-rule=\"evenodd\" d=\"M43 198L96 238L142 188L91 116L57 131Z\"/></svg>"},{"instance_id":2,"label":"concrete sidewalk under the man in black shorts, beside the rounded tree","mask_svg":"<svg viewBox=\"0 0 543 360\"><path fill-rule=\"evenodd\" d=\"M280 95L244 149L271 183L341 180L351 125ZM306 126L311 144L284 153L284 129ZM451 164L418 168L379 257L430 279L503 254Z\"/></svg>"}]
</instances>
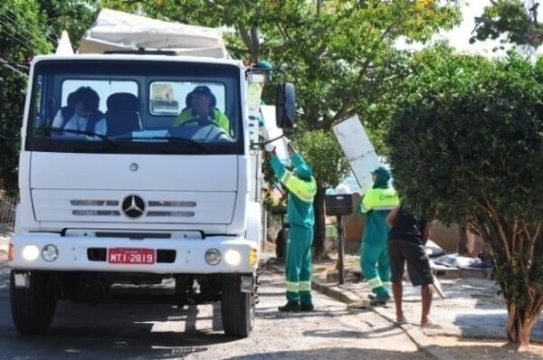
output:
<instances>
[{"instance_id":1,"label":"concrete sidewalk under the man in black shorts, beside the rounded tree","mask_svg":"<svg viewBox=\"0 0 543 360\"><path fill-rule=\"evenodd\" d=\"M282 264L275 263L273 266L284 271ZM338 285L338 282L327 282L326 274L314 276L311 281L312 289L346 303L351 311L370 309L395 322L394 300L391 299L386 306L370 306L367 301L370 290L364 281L356 282L347 277L344 284ZM437 336L507 341L507 308L498 285L490 279L440 279L440 282L445 298L439 298L434 293L431 315L433 321L443 328L429 329L419 326L422 307L420 287L414 288L404 281L403 308L408 324L401 327L419 349L437 359L448 360L452 357L443 346L439 346ZM543 317L539 317L532 329L531 343L543 343Z\"/></svg>"}]
</instances>

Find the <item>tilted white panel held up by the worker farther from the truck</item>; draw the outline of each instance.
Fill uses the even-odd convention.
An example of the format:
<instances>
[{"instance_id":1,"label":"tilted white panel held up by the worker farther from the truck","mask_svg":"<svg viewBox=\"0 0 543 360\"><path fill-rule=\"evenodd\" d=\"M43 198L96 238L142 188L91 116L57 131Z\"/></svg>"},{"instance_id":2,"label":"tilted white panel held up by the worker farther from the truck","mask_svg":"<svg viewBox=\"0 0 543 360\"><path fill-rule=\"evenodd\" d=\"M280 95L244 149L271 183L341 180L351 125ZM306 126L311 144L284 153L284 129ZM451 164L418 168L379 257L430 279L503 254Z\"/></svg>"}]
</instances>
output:
<instances>
[{"instance_id":1,"label":"tilted white panel held up by the worker farther from the truck","mask_svg":"<svg viewBox=\"0 0 543 360\"><path fill-rule=\"evenodd\" d=\"M357 178L362 194L365 194L372 185L371 172L382 166L373 144L367 137L366 129L357 115L339 121L332 129Z\"/></svg>"}]
</instances>

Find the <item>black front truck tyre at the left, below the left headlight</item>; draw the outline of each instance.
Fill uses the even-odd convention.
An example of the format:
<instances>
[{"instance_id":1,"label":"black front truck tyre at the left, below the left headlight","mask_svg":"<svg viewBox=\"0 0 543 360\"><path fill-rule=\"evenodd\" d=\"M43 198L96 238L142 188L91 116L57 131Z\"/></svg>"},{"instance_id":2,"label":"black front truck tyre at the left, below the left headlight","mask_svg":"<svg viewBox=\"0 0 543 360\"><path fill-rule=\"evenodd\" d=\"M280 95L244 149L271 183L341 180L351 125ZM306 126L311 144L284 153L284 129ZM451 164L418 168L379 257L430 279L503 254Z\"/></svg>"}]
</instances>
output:
<instances>
[{"instance_id":1,"label":"black front truck tyre at the left, below the left headlight","mask_svg":"<svg viewBox=\"0 0 543 360\"><path fill-rule=\"evenodd\" d=\"M17 331L40 334L51 327L56 298L49 287L47 274L31 271L28 289L15 288L14 271L10 275L10 302Z\"/></svg>"}]
</instances>

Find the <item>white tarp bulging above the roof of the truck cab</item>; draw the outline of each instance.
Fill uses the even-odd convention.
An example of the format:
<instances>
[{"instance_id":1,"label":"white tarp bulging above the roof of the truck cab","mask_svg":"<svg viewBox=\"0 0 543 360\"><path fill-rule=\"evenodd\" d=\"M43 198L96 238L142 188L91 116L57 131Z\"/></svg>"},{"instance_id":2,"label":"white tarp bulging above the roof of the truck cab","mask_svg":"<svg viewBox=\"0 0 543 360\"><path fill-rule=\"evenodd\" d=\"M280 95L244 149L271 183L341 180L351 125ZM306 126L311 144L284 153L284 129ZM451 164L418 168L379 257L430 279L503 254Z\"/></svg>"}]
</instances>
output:
<instances>
[{"instance_id":1,"label":"white tarp bulging above the roof of the truck cab","mask_svg":"<svg viewBox=\"0 0 543 360\"><path fill-rule=\"evenodd\" d=\"M81 39L80 53L168 50L179 55L227 58L223 33L204 26L169 23L103 9Z\"/></svg>"}]
</instances>

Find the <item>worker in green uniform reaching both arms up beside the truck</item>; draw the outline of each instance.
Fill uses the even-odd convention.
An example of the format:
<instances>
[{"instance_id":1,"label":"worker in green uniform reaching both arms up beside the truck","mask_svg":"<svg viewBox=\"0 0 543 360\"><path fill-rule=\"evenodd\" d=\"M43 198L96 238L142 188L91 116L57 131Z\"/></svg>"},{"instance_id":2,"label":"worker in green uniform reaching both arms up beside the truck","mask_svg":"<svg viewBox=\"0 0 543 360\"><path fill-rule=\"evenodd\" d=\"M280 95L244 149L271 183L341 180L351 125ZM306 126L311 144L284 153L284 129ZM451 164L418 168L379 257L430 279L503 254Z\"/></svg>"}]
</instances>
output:
<instances>
[{"instance_id":1,"label":"worker in green uniform reaching both arms up beside the truck","mask_svg":"<svg viewBox=\"0 0 543 360\"><path fill-rule=\"evenodd\" d=\"M311 243L313 242L313 198L317 183L313 171L289 143L292 171L289 171L271 151L273 172L289 191L287 222L290 225L287 241L285 272L287 278L287 303L279 311L312 311L311 299Z\"/></svg>"}]
</instances>

